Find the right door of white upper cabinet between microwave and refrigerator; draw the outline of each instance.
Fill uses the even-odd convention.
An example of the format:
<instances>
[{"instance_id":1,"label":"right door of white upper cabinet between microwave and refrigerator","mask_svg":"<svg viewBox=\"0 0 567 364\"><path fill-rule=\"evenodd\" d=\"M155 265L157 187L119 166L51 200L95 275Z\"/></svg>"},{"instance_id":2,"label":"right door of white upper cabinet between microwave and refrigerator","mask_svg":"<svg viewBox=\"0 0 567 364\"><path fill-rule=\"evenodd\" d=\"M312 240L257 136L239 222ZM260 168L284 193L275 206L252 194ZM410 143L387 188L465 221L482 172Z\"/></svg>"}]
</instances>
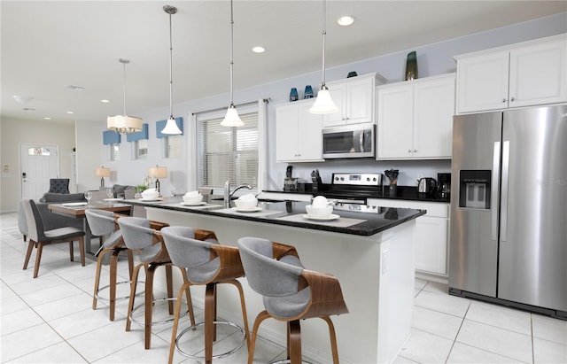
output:
<instances>
[{"instance_id":1,"label":"right door of white upper cabinet between microwave and refrigerator","mask_svg":"<svg viewBox=\"0 0 567 364\"><path fill-rule=\"evenodd\" d=\"M416 159L450 159L453 147L454 74L416 82L414 149Z\"/></svg>"}]
</instances>

